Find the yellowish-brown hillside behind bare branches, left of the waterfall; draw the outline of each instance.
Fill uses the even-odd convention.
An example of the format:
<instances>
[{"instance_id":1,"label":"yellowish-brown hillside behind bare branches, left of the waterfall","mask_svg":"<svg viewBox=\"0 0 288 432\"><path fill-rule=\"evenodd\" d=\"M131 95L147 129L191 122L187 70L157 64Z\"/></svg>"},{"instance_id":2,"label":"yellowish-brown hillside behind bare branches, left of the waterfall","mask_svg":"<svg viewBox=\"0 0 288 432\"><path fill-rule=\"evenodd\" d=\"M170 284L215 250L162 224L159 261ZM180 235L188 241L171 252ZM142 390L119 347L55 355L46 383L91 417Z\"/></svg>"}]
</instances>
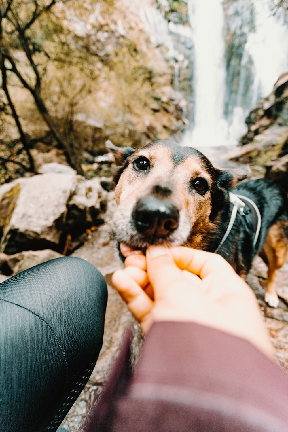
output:
<instances>
[{"instance_id":1,"label":"yellowish-brown hillside behind bare branches, left of the waterfall","mask_svg":"<svg viewBox=\"0 0 288 432\"><path fill-rule=\"evenodd\" d=\"M26 3L28 15L29 2L25 0L23 7ZM186 103L172 86L174 69L167 48L152 43L139 14L147 4L158 7L153 0L57 1L27 32L41 74L41 97L58 130L73 143L83 162L83 151L95 156L104 151L107 139L137 147L184 130ZM9 46L33 85L21 45L13 40ZM9 74L8 79L32 155L37 159L39 152L53 151L54 159L59 159L58 144L31 94L15 76ZM23 175L28 166L11 112L6 105L2 109L2 101L7 104L0 91L0 156L22 166L3 165L0 183Z\"/></svg>"}]
</instances>

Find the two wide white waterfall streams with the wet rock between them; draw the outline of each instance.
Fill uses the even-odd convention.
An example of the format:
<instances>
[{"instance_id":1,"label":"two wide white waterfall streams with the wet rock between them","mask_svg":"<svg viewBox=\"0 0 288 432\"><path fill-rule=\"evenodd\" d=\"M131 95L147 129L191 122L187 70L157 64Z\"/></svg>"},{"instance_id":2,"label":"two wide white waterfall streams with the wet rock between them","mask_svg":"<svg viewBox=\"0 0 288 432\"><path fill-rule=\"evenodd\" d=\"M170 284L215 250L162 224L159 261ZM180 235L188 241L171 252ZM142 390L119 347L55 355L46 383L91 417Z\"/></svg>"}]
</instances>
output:
<instances>
[{"instance_id":1,"label":"two wide white waterfall streams with the wet rock between them","mask_svg":"<svg viewBox=\"0 0 288 432\"><path fill-rule=\"evenodd\" d=\"M194 41L195 123L184 135L183 145L237 144L247 130L249 111L288 71L284 13L273 14L269 0L226 2L232 10L226 32L230 26L229 36L238 38L227 55L222 1L188 0L188 6Z\"/></svg>"}]
</instances>

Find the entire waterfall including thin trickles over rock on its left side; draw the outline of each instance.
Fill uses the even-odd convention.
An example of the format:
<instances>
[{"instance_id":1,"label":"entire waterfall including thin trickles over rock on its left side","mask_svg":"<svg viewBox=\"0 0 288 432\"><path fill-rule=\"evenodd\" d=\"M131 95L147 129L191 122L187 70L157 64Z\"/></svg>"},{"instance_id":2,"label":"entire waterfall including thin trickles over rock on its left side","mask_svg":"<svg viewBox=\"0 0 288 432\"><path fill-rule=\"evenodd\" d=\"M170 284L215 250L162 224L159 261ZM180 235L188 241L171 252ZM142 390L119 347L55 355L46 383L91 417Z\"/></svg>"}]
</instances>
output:
<instances>
[{"instance_id":1,"label":"entire waterfall including thin trickles over rock on its left side","mask_svg":"<svg viewBox=\"0 0 288 432\"><path fill-rule=\"evenodd\" d=\"M168 48L174 87L188 100L189 127L183 145L236 144L247 130L249 111L288 71L284 12L274 13L270 0L223 3L187 0L190 26L165 21L166 0L158 0L158 10L150 5L144 13L142 8L152 41ZM188 49L183 51L181 44ZM184 80L190 82L184 85Z\"/></svg>"}]
</instances>

